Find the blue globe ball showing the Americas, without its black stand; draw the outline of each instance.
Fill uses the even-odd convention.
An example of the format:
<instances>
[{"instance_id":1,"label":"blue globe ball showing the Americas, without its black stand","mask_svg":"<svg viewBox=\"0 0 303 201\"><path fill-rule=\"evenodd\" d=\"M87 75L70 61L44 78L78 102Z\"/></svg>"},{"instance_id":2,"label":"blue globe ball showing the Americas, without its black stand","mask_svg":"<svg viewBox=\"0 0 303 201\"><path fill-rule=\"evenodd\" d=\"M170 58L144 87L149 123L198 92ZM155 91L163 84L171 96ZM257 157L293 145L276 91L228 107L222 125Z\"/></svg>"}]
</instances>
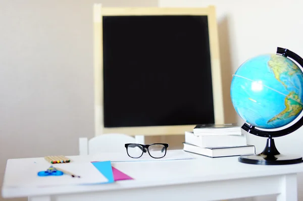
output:
<instances>
[{"instance_id":1,"label":"blue globe ball showing the Americas, without its black stand","mask_svg":"<svg viewBox=\"0 0 303 201\"><path fill-rule=\"evenodd\" d=\"M303 109L303 73L287 57L266 54L245 61L233 75L231 101L250 125L273 129L292 122Z\"/></svg>"}]
</instances>

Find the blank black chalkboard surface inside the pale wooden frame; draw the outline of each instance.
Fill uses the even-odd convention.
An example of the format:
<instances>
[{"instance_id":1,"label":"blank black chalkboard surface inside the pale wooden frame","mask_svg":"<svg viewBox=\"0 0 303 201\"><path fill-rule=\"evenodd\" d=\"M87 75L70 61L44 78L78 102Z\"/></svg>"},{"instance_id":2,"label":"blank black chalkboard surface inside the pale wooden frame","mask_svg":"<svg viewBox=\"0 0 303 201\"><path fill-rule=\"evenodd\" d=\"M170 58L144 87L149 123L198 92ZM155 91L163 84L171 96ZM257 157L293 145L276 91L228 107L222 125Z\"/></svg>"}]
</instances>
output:
<instances>
[{"instance_id":1,"label":"blank black chalkboard surface inside the pale wooden frame","mask_svg":"<svg viewBox=\"0 0 303 201\"><path fill-rule=\"evenodd\" d=\"M211 124L207 16L103 17L104 127Z\"/></svg>"}]
</instances>

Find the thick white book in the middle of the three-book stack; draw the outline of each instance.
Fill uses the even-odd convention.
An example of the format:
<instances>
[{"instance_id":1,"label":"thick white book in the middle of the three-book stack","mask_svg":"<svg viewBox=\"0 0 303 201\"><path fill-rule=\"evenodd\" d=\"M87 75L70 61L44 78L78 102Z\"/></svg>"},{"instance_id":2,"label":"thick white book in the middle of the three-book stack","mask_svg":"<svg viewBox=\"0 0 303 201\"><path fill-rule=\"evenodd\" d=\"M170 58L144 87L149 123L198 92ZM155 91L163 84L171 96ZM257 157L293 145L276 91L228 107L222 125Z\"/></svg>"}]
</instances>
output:
<instances>
[{"instance_id":1,"label":"thick white book in the middle of the three-book stack","mask_svg":"<svg viewBox=\"0 0 303 201\"><path fill-rule=\"evenodd\" d=\"M220 146L244 146L246 135L194 135L193 132L185 132L185 142L200 147Z\"/></svg>"}]
</instances>

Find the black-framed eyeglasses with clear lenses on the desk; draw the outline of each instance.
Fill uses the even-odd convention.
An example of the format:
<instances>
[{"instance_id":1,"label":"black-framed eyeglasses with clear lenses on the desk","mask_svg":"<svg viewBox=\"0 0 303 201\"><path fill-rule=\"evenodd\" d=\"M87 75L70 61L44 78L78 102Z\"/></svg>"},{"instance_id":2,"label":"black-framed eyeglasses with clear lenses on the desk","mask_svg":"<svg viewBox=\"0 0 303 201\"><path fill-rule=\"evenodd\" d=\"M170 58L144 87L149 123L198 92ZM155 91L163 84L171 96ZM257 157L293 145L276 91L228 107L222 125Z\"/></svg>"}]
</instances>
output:
<instances>
[{"instance_id":1,"label":"black-framed eyeglasses with clear lenses on the desk","mask_svg":"<svg viewBox=\"0 0 303 201\"><path fill-rule=\"evenodd\" d=\"M138 159L143 153L148 152L150 157L154 159L161 159L165 157L168 148L167 143L154 143L154 144L125 144L127 155L131 158ZM147 151L146 151L147 150Z\"/></svg>"}]
</instances>

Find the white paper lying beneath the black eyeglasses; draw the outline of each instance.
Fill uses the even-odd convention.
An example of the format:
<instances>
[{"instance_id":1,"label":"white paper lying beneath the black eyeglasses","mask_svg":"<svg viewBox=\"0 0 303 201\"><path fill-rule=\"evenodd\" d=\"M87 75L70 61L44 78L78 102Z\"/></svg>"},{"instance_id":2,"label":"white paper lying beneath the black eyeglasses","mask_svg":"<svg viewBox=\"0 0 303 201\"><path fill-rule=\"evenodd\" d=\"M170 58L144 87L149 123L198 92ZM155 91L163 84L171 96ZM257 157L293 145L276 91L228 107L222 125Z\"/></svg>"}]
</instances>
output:
<instances>
[{"instance_id":1,"label":"white paper lying beneath the black eyeglasses","mask_svg":"<svg viewBox=\"0 0 303 201\"><path fill-rule=\"evenodd\" d=\"M168 161L168 160L185 160L193 159L193 157L184 152L184 150L168 150L166 156L161 159L154 159L149 154L143 153L138 159L130 158L126 151L124 153L98 154L92 157L92 161L111 161L111 162L131 162L131 161Z\"/></svg>"}]
</instances>

